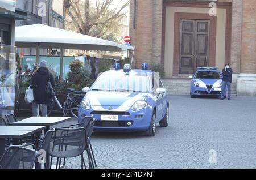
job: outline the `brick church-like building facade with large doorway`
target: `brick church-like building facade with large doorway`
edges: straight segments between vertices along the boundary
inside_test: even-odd
[[[237,95],[256,96],[255,0],[131,0],[130,36],[136,67],[161,64],[174,78],[230,63]]]

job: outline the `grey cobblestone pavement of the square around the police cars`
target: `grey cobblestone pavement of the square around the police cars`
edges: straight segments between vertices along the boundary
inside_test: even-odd
[[[156,136],[139,132],[96,132],[98,168],[256,168],[256,97],[170,96],[170,125]],[[57,127],[76,123],[76,119]],[[209,151],[217,163],[209,163]],[[81,158],[65,168],[80,168]]]

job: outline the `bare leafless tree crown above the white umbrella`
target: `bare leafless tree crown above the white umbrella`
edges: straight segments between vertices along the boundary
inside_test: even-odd
[[[118,22],[127,16],[124,10],[129,6],[129,0],[120,0],[114,8],[110,8],[114,5],[113,0],[93,1],[94,3],[90,0],[69,1],[68,16],[71,20],[67,20],[67,22],[71,23],[80,33],[104,36],[108,33],[106,29],[117,27]],[[122,2],[124,3],[121,6]]]

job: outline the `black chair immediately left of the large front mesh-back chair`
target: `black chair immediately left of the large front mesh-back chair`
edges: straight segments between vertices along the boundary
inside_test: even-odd
[[[46,132],[43,139],[34,139],[31,141],[28,141],[27,143],[30,143],[30,144],[27,144],[27,145],[31,145],[38,152],[41,152],[43,150],[46,153],[46,155],[48,155],[52,136],[54,133],[55,133],[55,128],[52,128],[51,130]],[[44,160],[44,162],[46,162],[45,168],[49,169],[50,168],[49,162],[47,160]]]

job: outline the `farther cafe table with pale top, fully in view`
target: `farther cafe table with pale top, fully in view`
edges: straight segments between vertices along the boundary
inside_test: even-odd
[[[49,131],[51,126],[68,121],[71,117],[31,117],[21,121],[13,122],[13,126],[46,126],[45,132]]]

